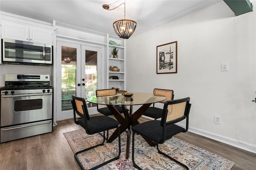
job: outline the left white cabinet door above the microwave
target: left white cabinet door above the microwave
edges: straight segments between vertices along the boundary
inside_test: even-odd
[[[29,41],[29,27],[11,22],[2,22],[2,38]]]

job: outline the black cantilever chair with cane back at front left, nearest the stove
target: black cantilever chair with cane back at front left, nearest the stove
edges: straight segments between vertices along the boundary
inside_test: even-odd
[[[83,127],[86,131],[87,134],[96,134],[96,133],[100,133],[103,132],[104,136],[105,136],[105,131],[106,130],[110,130],[113,128],[118,128],[119,130],[119,123],[118,121],[116,121],[115,119],[112,119],[111,117],[108,116],[95,116],[95,117],[90,117],[87,107],[86,107],[86,103],[85,103],[85,99],[81,98],[81,97],[76,97],[76,96],[72,96],[72,107],[73,107],[73,111],[74,111],[74,122],[77,125],[80,125],[81,127]],[[82,117],[82,119],[76,119],[76,114],[79,115],[80,117]],[[120,134],[118,136],[118,144],[119,144],[119,152],[118,155],[115,156],[114,158],[103,162],[93,168],[90,168],[90,170],[94,170],[96,168],[99,168],[100,166],[103,166],[105,164],[108,164],[109,162],[113,161],[113,160],[117,160],[119,159],[120,153],[121,153],[121,145],[120,145]],[[97,144],[95,146],[91,146],[89,148],[80,150],[78,152],[76,152],[74,154],[76,161],[78,162],[80,168],[83,168],[80,160],[77,157],[77,154],[81,153],[81,152],[85,152],[86,150],[90,150],[92,148],[95,148],[97,146],[100,145],[104,145],[105,142],[105,138],[103,137],[103,142],[100,144]]]

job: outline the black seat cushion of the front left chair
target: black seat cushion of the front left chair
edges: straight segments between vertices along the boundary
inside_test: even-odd
[[[85,122],[84,119],[79,119],[77,123],[85,129]],[[108,116],[95,116],[90,117],[87,121],[88,125],[88,134],[94,134],[98,132],[102,132],[105,130],[109,130],[112,128],[117,128],[119,123],[115,119],[108,117]]]

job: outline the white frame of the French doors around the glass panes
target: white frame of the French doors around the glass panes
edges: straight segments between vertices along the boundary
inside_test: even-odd
[[[103,51],[103,47],[98,47],[97,45],[95,45],[96,47],[93,47],[94,45],[83,45],[80,44],[78,42],[70,42],[70,41],[56,41],[56,57],[54,57],[54,74],[53,74],[53,86],[54,86],[54,122],[56,121],[60,121],[60,120],[64,120],[64,119],[70,119],[73,118],[73,111],[62,111],[61,110],[61,47],[62,46],[66,46],[66,47],[73,47],[77,49],[77,63],[85,63],[85,50],[90,50],[90,51],[97,51],[97,65],[98,65],[98,89],[101,89],[101,87],[104,87],[104,85],[102,85],[102,83],[104,83],[102,81],[102,51]],[[82,52],[83,51],[83,52]],[[84,53],[84,55],[82,54]],[[81,57],[84,56],[84,57]],[[85,67],[85,64],[84,64]],[[77,71],[77,78],[76,78],[76,87],[78,83],[82,83],[82,80],[80,77],[85,77],[85,75],[81,75],[81,64],[77,64],[76,67]],[[85,74],[85,73],[83,73]],[[79,79],[78,79],[79,78]],[[81,85],[82,86],[82,85]],[[81,87],[80,86],[80,87]],[[81,90],[82,89],[82,90]],[[76,94],[85,94],[85,89],[84,88],[77,88]],[[96,107],[91,107],[90,109],[88,109],[88,112],[91,114],[95,114],[98,113],[96,110]]]

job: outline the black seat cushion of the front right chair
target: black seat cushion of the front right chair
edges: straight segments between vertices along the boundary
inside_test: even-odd
[[[163,127],[161,121],[148,121],[132,127],[132,132],[144,135],[156,143],[162,144],[165,140],[172,138],[175,134],[183,132],[185,129],[178,125],[166,125],[166,138],[163,139]]]

